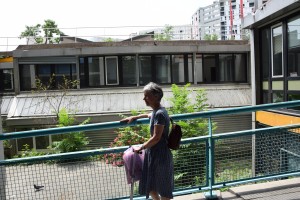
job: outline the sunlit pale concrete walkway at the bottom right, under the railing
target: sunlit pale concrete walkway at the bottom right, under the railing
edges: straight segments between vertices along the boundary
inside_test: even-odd
[[[216,191],[220,200],[300,200],[300,178],[232,187]],[[205,200],[203,193],[175,197],[175,200]]]

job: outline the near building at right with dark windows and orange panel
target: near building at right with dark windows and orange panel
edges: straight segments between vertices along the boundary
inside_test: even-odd
[[[272,0],[244,19],[251,30],[253,102],[300,100],[300,3]],[[299,121],[300,108],[258,112],[257,121],[274,126]],[[273,119],[273,120],[270,120]]]

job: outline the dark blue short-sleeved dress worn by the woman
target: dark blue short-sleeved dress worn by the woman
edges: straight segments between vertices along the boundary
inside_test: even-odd
[[[149,198],[149,192],[156,191],[163,197],[172,199],[174,189],[173,156],[168,147],[170,118],[165,108],[154,110],[150,119],[150,133],[153,135],[154,125],[164,125],[160,141],[145,150],[142,178],[139,193]]]

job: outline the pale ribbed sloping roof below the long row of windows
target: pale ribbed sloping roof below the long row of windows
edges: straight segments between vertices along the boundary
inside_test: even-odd
[[[200,89],[200,88],[197,88]],[[207,103],[212,108],[251,105],[251,88],[225,87],[206,89]],[[55,95],[58,95],[56,93]],[[50,98],[36,94],[18,95],[17,106],[11,117],[31,117],[34,115],[54,115],[57,110],[60,96]],[[49,96],[49,95],[48,95]],[[164,88],[162,105],[169,107],[168,98],[172,96],[170,88]],[[142,89],[114,89],[98,91],[73,91],[63,97],[60,108],[66,107],[70,112],[77,114],[97,114],[106,112],[123,112],[130,110],[149,109],[143,101]],[[196,92],[190,96],[195,102]],[[2,103],[3,104],[3,103]],[[4,104],[3,104],[4,105]],[[7,105],[7,103],[5,103]],[[3,106],[1,108],[4,110]]]

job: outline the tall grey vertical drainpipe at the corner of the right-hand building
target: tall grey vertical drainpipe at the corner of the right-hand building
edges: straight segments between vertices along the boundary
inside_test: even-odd
[[[252,106],[256,105],[256,82],[255,82],[255,49],[254,29],[250,31],[250,65],[251,65],[251,96]],[[252,112],[252,129],[255,129],[255,112]],[[252,136],[252,176],[255,176],[255,135]]]

